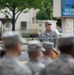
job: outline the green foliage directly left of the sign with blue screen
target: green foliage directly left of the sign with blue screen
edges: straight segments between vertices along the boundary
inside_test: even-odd
[[[53,0],[43,0],[42,8],[37,13],[36,16],[37,20],[53,19],[52,8],[53,8]]]

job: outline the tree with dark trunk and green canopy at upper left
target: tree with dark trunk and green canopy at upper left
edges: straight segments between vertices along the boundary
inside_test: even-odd
[[[28,12],[31,8],[41,8],[43,0],[0,0],[0,9],[7,18],[11,17],[12,30],[15,30],[15,23],[19,15]],[[11,12],[9,12],[11,11]]]

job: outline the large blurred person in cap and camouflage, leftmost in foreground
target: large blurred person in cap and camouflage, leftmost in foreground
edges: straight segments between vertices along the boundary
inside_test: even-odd
[[[3,43],[6,53],[0,61],[0,75],[31,75],[29,68],[18,60],[22,51],[22,37],[16,32],[7,32]]]

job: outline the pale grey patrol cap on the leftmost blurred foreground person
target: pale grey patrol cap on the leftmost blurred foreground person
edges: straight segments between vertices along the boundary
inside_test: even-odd
[[[3,35],[4,46],[16,45],[17,43],[23,43],[23,38],[18,32],[10,31]]]

